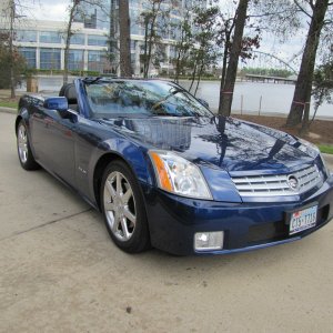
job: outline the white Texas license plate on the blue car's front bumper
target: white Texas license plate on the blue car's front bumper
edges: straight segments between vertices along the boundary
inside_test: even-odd
[[[295,234],[314,226],[316,222],[316,212],[317,205],[293,212],[290,220],[289,234]]]

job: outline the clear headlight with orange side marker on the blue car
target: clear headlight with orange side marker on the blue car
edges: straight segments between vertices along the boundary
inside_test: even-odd
[[[150,151],[159,188],[189,198],[212,200],[200,169],[190,161],[168,151]]]

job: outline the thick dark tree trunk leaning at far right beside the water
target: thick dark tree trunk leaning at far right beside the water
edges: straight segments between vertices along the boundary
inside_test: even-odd
[[[294,127],[299,124],[303,117],[302,132],[305,133],[309,127],[310,101],[316,52],[322,29],[326,23],[325,16],[329,7],[333,6],[333,2],[330,2],[330,0],[303,0],[301,3],[294,0],[294,3],[299,7],[300,11],[310,19],[310,27],[286,125]],[[307,7],[305,7],[305,4],[307,4]]]

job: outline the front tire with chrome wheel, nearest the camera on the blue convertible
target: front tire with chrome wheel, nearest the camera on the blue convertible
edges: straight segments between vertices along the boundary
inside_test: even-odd
[[[117,246],[128,253],[149,249],[143,196],[135,176],[124,162],[117,160],[108,164],[100,198],[105,226]]]

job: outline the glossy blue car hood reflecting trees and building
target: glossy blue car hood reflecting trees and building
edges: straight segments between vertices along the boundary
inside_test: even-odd
[[[119,118],[101,120],[148,149],[172,150],[196,164],[230,173],[289,172],[316,152],[296,138],[234,118]]]

